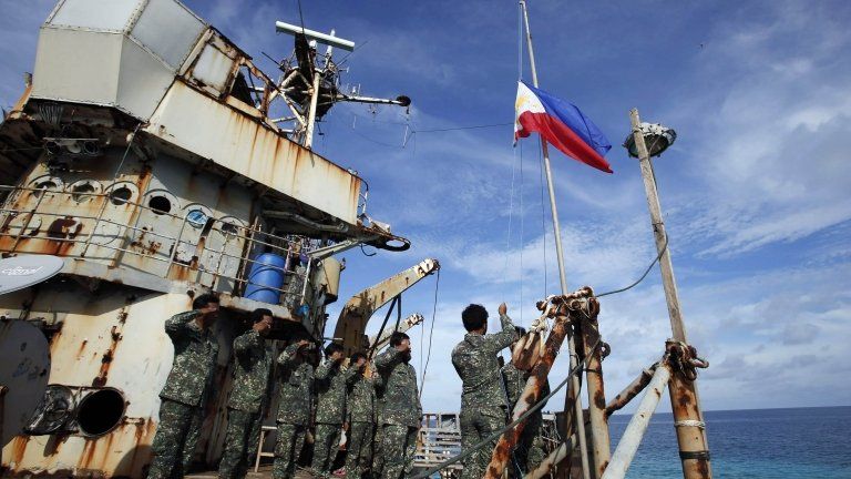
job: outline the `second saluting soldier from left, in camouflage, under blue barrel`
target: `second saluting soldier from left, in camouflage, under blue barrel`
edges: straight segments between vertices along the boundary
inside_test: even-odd
[[[271,329],[271,312],[252,313],[254,326],[234,339],[234,388],[227,402],[227,436],[218,466],[222,479],[242,479],[257,455],[267,393],[271,377],[271,351],[264,338]]]

